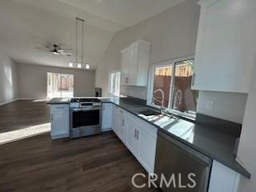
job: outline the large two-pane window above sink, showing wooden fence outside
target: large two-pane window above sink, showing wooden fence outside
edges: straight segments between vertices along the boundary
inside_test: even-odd
[[[150,69],[147,105],[166,108],[169,112],[195,119],[198,90],[194,81],[194,58],[155,64]]]

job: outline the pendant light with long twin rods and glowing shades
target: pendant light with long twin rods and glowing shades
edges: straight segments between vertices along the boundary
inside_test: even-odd
[[[78,22],[82,22],[82,58],[81,62],[78,62]],[[75,62],[70,62],[70,67],[77,67],[78,69],[90,69],[90,64],[83,62],[83,47],[84,47],[84,39],[83,39],[83,31],[84,31],[84,22],[82,18],[75,18]]]

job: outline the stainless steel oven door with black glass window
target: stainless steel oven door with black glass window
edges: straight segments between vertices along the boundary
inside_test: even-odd
[[[102,131],[102,108],[70,110],[70,138],[78,138]]]

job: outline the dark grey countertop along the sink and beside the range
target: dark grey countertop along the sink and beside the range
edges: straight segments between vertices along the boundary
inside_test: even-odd
[[[171,118],[166,115],[144,116],[138,114],[137,110],[146,108],[146,103],[133,102],[122,98],[99,98],[103,103],[114,103],[127,110],[131,114],[142,118],[146,122],[176,138],[179,142],[198,150],[202,154],[221,162],[230,169],[237,171],[246,178],[250,178],[250,173],[235,159],[236,145],[238,137],[233,134],[226,134],[219,129],[214,129],[208,125],[186,121],[182,118]],[[48,104],[68,104],[68,98],[54,98]]]

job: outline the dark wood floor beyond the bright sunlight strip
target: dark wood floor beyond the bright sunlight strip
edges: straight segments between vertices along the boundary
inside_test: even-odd
[[[0,134],[50,122],[50,106],[33,100],[0,106]]]

